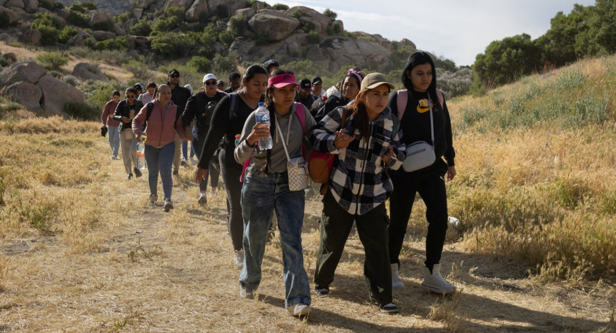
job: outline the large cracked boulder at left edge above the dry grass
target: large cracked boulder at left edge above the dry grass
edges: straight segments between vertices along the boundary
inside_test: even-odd
[[[20,62],[0,73],[0,94],[9,95],[27,110],[61,113],[65,102],[84,102],[79,89],[49,75],[36,62]]]

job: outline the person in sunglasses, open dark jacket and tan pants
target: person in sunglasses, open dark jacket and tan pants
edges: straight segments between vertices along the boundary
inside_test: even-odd
[[[137,112],[144,107],[141,101],[137,101],[137,89],[126,89],[126,99],[120,101],[113,113],[113,119],[120,121],[120,147],[122,148],[122,161],[126,178],[132,178],[134,171],[136,177],[141,176],[141,171],[137,168],[137,141],[132,133],[132,120]],[[132,168],[131,168],[132,167]]]

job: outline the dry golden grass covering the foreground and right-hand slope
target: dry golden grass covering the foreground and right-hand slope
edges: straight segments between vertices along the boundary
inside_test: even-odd
[[[0,332],[615,332],[616,57],[448,102],[458,175],[447,184],[442,263],[452,297],[419,289],[425,207],[401,254],[397,316],[370,310],[352,232],[330,297],[300,321],[283,309],[280,244],[259,299],[238,297],[222,192],[147,207],[99,123],[36,118],[0,101]],[[101,105],[102,109],[102,105]],[[160,190],[159,190],[160,191]],[[320,202],[303,229],[309,278]]]

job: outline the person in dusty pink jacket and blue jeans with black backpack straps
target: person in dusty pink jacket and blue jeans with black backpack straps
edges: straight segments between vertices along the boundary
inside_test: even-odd
[[[145,131],[141,126],[145,123]],[[158,86],[158,94],[154,101],[145,105],[132,121],[132,133],[141,141],[145,139],[145,163],[148,166],[148,187],[150,187],[150,204],[154,205],[157,194],[158,172],[163,183],[163,209],[165,212],[173,209],[171,191],[173,178],[171,165],[176,151],[174,137],[185,138],[182,120],[178,116],[177,107],[171,102],[171,88],[167,84]]]

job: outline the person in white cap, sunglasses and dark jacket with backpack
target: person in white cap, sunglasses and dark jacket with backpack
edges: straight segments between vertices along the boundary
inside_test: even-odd
[[[209,73],[203,76],[203,89],[205,91],[197,92],[197,94],[191,96],[186,103],[186,108],[182,112],[182,125],[184,125],[184,131],[188,139],[192,139],[192,146],[196,152],[203,150],[203,142],[208,135],[209,125],[212,120],[212,114],[218,102],[222,97],[227,96],[226,92],[217,90],[217,81],[214,74]],[[195,135],[191,134],[190,123],[195,120]],[[199,183],[199,189],[201,194],[199,195],[198,202],[200,205],[205,205],[208,202],[207,196],[207,184],[208,176],[210,178],[211,193],[216,193],[216,187],[218,186],[219,173],[214,169],[212,162],[209,162],[209,173],[204,179],[201,179]]]

